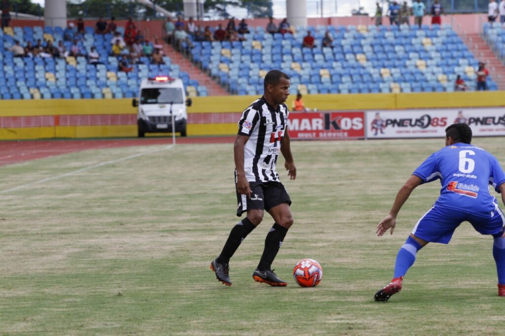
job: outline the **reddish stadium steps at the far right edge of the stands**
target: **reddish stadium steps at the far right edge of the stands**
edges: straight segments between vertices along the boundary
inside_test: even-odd
[[[496,82],[498,89],[505,90],[505,65],[498,60],[486,41],[479,34],[467,34],[464,40],[475,58],[486,63],[489,75]]]

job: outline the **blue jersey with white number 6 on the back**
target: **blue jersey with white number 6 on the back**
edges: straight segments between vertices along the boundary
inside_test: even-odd
[[[498,191],[505,173],[498,160],[482,148],[456,143],[431,154],[413,173],[423,182],[440,179],[442,189],[435,206],[489,216],[498,203],[489,184]]]

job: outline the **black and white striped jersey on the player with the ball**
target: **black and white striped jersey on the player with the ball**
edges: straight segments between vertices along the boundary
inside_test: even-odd
[[[279,182],[275,170],[289,110],[280,104],[275,110],[264,97],[247,107],[238,122],[238,134],[248,136],[244,146],[244,170],[249,182]]]

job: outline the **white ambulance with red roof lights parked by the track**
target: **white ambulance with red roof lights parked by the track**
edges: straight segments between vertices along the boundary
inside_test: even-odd
[[[138,100],[134,98],[132,105],[138,106],[138,137],[143,138],[145,133],[171,133],[173,130],[186,136],[186,106],[191,106],[191,99],[186,100],[182,80],[167,76],[143,79]]]

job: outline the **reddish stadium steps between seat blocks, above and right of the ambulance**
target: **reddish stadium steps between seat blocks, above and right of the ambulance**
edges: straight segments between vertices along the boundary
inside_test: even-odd
[[[223,87],[216,83],[211,77],[209,77],[205,72],[194,66],[188,59],[186,59],[180,52],[174,49],[172,45],[165,46],[165,54],[170,57],[172,63],[178,64],[181,67],[181,71],[185,71],[189,74],[191,79],[196,79],[199,85],[205,85],[207,87],[207,92],[210,96],[227,96],[230,95]]]

